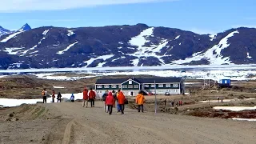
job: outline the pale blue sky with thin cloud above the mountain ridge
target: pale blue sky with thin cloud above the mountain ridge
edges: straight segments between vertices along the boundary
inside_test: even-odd
[[[4,0],[0,26],[166,26],[214,34],[256,27],[255,0]]]

